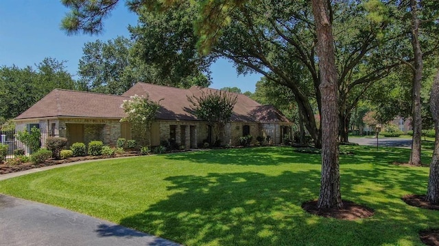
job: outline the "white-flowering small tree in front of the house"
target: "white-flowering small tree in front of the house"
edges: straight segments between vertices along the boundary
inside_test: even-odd
[[[151,124],[160,109],[160,100],[154,102],[149,96],[130,96],[130,100],[123,100],[121,108],[126,117],[121,122],[130,122],[134,133],[140,137],[140,145],[150,144]]]

